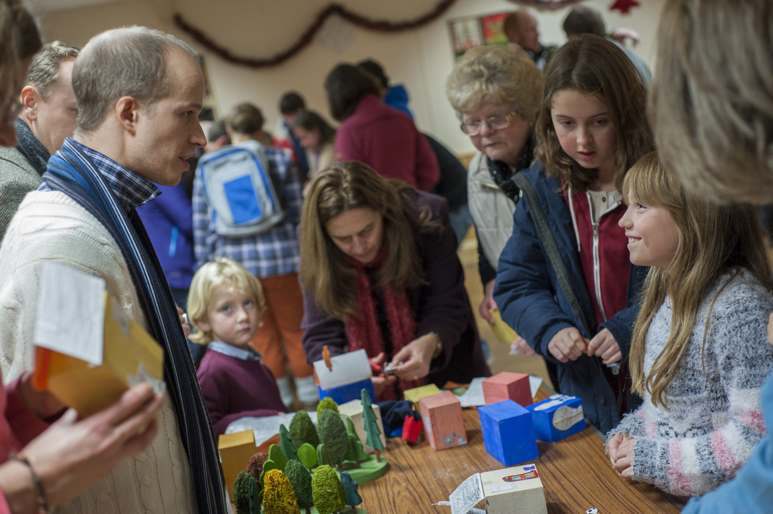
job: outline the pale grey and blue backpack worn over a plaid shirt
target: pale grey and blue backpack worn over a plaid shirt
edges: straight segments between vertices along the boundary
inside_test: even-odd
[[[218,235],[252,236],[284,218],[265,152],[257,141],[206,153],[197,168]]]

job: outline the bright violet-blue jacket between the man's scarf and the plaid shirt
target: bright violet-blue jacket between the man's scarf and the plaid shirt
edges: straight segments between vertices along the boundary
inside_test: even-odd
[[[193,213],[182,183],[158,186],[161,195],[137,209],[170,288],[188,289],[196,271]]]

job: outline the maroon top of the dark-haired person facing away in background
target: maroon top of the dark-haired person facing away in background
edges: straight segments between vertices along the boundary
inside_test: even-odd
[[[387,179],[429,191],[440,167],[427,138],[402,111],[367,95],[335,134],[335,160],[364,162]]]

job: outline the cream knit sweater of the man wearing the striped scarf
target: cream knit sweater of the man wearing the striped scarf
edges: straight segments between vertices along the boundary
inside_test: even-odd
[[[33,366],[43,260],[104,278],[107,292],[148,328],[121,250],[104,226],[61,192],[30,192],[0,247],[0,368],[5,383]],[[104,480],[55,512],[196,512],[188,458],[169,397],[148,449],[121,461]]]

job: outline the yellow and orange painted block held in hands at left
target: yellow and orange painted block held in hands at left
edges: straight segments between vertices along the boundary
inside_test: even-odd
[[[139,381],[164,387],[164,350],[104,293],[101,366],[53,350],[36,350],[36,384],[87,417],[115,403]]]

